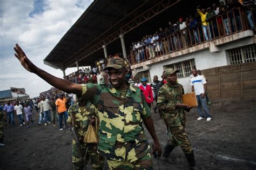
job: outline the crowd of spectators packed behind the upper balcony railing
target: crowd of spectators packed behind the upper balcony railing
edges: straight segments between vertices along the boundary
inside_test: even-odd
[[[227,0],[226,4],[212,4],[207,8],[200,5],[197,11],[189,17],[180,17],[176,22],[159,28],[152,35],[145,35],[142,40],[133,42],[130,46],[130,56],[133,64],[161,56],[166,53],[185,49],[192,45],[212,40],[230,33],[242,30],[242,19],[246,18],[248,29],[254,31],[253,12],[255,1]],[[245,15],[244,15],[245,14]]]

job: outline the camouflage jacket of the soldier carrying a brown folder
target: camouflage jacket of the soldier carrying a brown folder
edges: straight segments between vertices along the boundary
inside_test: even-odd
[[[182,103],[183,86],[177,83],[174,86],[168,83],[161,86],[158,92],[157,107],[161,110],[164,119],[169,119],[171,114],[180,114],[183,117],[183,108],[176,108],[176,103]]]

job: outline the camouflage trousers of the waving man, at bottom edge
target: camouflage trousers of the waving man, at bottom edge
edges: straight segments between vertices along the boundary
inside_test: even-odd
[[[150,153],[147,153],[144,157],[130,162],[128,160],[117,161],[117,160],[107,160],[107,164],[109,165],[109,169],[118,170],[118,169],[153,169],[152,159]]]

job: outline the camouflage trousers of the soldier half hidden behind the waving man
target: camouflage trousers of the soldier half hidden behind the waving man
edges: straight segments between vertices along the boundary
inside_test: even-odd
[[[85,164],[87,165],[89,160],[91,160],[92,169],[102,169],[104,166],[104,157],[97,153],[97,144],[86,144],[86,146],[81,144],[81,147],[83,154],[85,154],[87,147],[86,155],[83,155]],[[75,140],[72,141],[72,163],[75,169],[84,169],[84,163],[79,157]]]

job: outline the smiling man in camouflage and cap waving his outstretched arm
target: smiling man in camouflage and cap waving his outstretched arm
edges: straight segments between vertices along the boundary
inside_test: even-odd
[[[96,106],[100,119],[98,152],[106,157],[110,169],[153,169],[143,124],[153,138],[153,154],[161,155],[161,147],[143,93],[125,81],[122,58],[111,58],[105,67],[110,84],[78,85],[36,67],[18,44],[14,50],[26,70]]]

